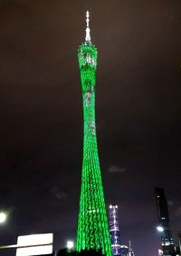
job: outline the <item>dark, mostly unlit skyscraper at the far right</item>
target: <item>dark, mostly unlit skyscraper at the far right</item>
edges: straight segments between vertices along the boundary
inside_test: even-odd
[[[161,188],[155,189],[155,195],[157,204],[157,218],[159,226],[163,228],[162,231],[160,231],[161,246],[164,252],[163,255],[169,256],[171,255],[171,252],[174,251],[174,241],[167,209],[167,198],[164,190]]]

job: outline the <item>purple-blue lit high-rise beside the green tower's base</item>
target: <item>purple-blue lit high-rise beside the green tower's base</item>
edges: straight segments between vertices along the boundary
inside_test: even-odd
[[[110,242],[113,255],[121,254],[119,233],[119,208],[117,204],[110,204],[109,209]]]

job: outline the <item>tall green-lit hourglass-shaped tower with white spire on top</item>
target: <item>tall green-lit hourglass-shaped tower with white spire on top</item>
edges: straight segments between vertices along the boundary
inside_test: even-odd
[[[104,202],[95,124],[97,49],[90,42],[89,12],[85,43],[78,50],[83,99],[83,161],[76,250],[101,250],[112,255]]]

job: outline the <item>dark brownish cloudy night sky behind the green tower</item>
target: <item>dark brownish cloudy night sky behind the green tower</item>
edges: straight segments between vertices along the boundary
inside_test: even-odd
[[[75,240],[87,9],[105,199],[119,204],[121,243],[156,256],[155,187],[181,231],[180,0],[0,1],[0,244],[41,232],[55,249]]]

